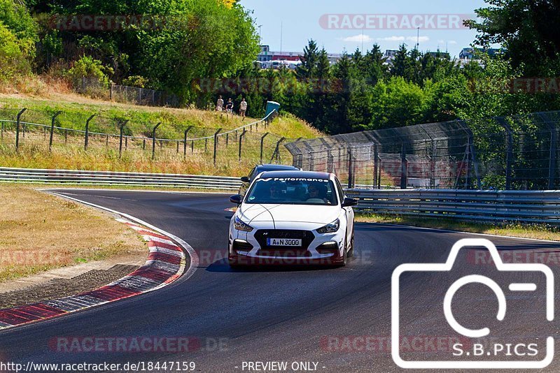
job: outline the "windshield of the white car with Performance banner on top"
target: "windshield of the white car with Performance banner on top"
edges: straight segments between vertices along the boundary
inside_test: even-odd
[[[256,180],[245,203],[284,205],[337,205],[335,185],[313,178],[267,178]]]

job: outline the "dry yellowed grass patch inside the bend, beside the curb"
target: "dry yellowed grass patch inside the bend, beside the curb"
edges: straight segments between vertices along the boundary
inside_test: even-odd
[[[109,215],[31,186],[0,184],[0,200],[0,281],[146,250]]]

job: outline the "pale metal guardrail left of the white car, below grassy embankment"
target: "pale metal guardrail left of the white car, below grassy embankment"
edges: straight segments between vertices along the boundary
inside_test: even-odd
[[[0,167],[0,182],[102,186],[165,186],[224,191],[235,191],[241,186],[239,177],[118,173],[110,171],[35,170],[6,167]]]

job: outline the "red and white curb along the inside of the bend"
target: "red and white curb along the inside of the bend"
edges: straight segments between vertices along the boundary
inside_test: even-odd
[[[68,198],[66,196],[62,197]],[[80,200],[78,200],[78,202],[83,203],[83,201]],[[90,203],[87,204],[92,205]],[[103,210],[109,210],[105,207],[100,208]],[[110,211],[115,212],[113,210]],[[130,228],[137,231],[139,235],[144,236],[144,240],[148,242],[148,248],[150,250],[148,260],[141,268],[135,270],[122,279],[113,281],[111,284],[102,286],[101,288],[97,288],[93,291],[80,293],[78,295],[71,295],[69,297],[56,300],[38,302],[31,305],[0,309],[0,330],[12,328],[14,326],[22,326],[35,321],[52,319],[71,312],[104,305],[110,302],[116,302],[117,300],[158,290],[159,288],[176,281],[176,279],[179,279],[179,277],[185,273],[187,262],[186,251],[188,251],[190,257],[190,267],[188,272],[192,275],[194,272],[193,268],[195,269],[198,263],[198,257],[194,253],[194,250],[188,246],[186,242],[175,236],[173,236],[172,239],[172,237],[169,237],[172,235],[165,233],[158,228],[145,228],[145,226],[149,226],[149,224],[140,225],[131,221],[139,221],[136,218],[129,217],[126,214],[118,214],[127,218],[132,218],[118,218],[117,221],[130,226]],[[181,246],[183,246],[185,250],[183,251],[179,244],[176,244],[175,242],[180,242]]]

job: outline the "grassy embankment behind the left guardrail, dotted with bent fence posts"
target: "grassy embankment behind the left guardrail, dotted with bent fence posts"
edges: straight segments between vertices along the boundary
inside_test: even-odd
[[[28,108],[22,121],[50,124],[50,115],[62,110],[57,126],[69,129],[85,128],[85,122],[95,113],[90,131],[118,133],[115,119],[127,118],[127,136],[151,137],[151,128],[162,122],[158,138],[183,139],[188,126],[195,126],[189,138],[212,136],[216,129],[236,129],[255,119],[241,122],[240,117],[229,117],[217,112],[195,109],[149,108],[122,103],[96,101],[76,95],[61,95],[59,99],[29,98],[0,95],[0,119],[14,118],[19,108]],[[91,136],[87,152],[83,149],[82,133],[55,131],[52,152],[48,151],[48,132],[30,126],[29,132],[20,136],[20,152],[15,152],[13,124],[6,124],[0,139],[0,165],[21,168],[59,168],[71,170],[113,170],[123,172],[183,173],[204,175],[246,175],[255,163],[260,162],[260,139],[269,132],[263,143],[262,161],[271,161],[276,143],[281,137],[288,142],[297,138],[315,138],[321,133],[291,115],[281,115],[264,128],[262,124],[248,130],[244,136],[239,161],[239,134],[232,133],[218,139],[218,152],[214,164],[214,140],[188,142],[187,154],[183,156],[183,142],[158,142],[155,159],[151,159],[151,140],[128,140],[119,156],[119,139]],[[227,146],[226,146],[227,142]],[[179,145],[179,149],[177,148]],[[178,152],[179,150],[179,152]],[[279,147],[280,162],[292,163],[292,157],[283,145]]]

